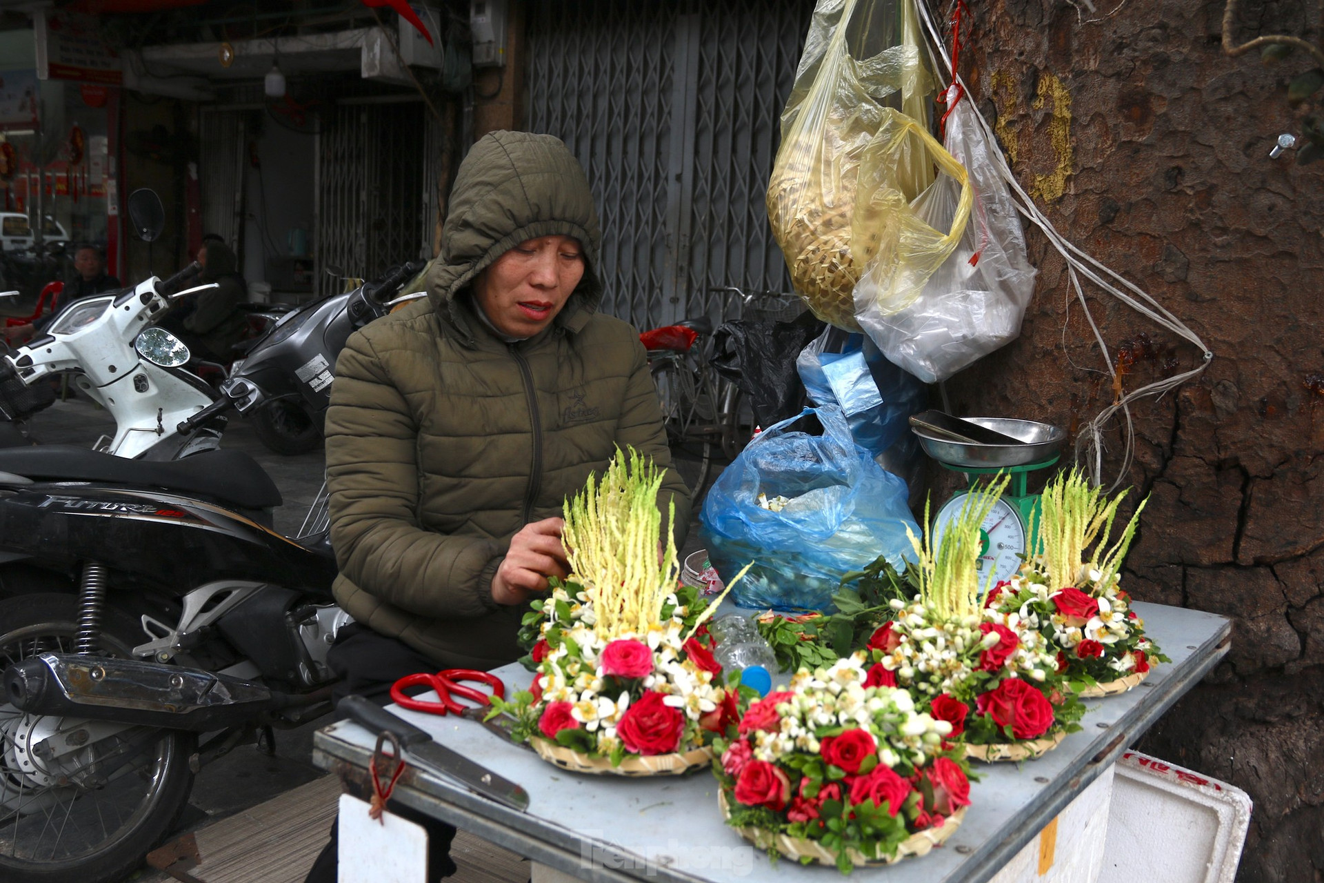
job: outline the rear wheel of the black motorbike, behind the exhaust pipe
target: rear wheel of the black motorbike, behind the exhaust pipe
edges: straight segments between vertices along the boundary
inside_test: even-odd
[[[0,669],[41,653],[73,653],[70,594],[0,601]],[[135,624],[107,609],[101,651],[128,657]],[[109,729],[114,729],[114,724]],[[26,715],[0,704],[0,880],[110,883],[143,860],[179,819],[193,786],[193,736]],[[75,740],[91,740],[68,751]],[[61,735],[65,753],[34,751]]]

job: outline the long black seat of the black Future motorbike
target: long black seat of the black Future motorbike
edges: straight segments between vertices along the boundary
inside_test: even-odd
[[[240,450],[208,450],[184,459],[126,459],[75,445],[0,449],[0,471],[33,481],[113,482],[203,494],[240,508],[279,506],[281,491]]]

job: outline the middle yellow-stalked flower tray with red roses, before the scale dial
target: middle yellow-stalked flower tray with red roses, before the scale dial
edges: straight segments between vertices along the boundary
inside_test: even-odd
[[[1054,748],[1084,707],[1057,670],[1043,635],[1013,610],[985,609],[976,559],[980,524],[1006,479],[965,498],[937,549],[932,530],[911,537],[919,594],[894,601],[894,617],[869,639],[869,684],[898,686],[964,736],[980,760],[1026,760]],[[927,519],[928,512],[925,512]]]

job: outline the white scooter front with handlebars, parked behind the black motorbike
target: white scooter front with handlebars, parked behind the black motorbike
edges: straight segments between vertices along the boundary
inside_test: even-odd
[[[189,359],[188,347],[169,331],[150,326],[168,306],[160,289],[175,278],[162,282],[152,277],[134,289],[78,301],[46,334],[7,356],[26,384],[70,373],[74,388],[115,418],[114,438],[99,447],[105,453],[177,459],[217,447],[214,432],[176,433],[180,421],[211,405],[216,395],[181,368]],[[203,285],[172,297],[214,287]]]

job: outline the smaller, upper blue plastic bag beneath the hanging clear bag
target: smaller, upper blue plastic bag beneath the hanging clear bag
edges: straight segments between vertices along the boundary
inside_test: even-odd
[[[865,335],[841,338],[835,328],[825,331],[800,352],[796,368],[809,400],[839,406],[855,443],[876,457],[910,440],[910,417],[924,410],[927,391]]]

